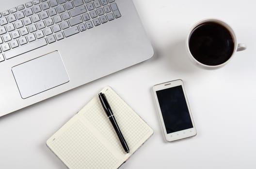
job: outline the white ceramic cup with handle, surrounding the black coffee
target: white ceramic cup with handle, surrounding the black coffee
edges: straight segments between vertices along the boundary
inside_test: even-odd
[[[203,63],[199,62],[198,60],[196,60],[194,58],[194,56],[192,55],[192,53],[190,51],[190,47],[189,47],[190,37],[191,37],[192,31],[194,30],[194,28],[198,27],[201,24],[208,23],[208,22],[218,23],[218,24],[224,26],[225,28],[227,28],[229,30],[229,32],[231,33],[231,35],[233,37],[233,41],[234,41],[234,51],[233,51],[232,56],[230,56],[230,58],[227,61],[225,61],[224,63],[222,63],[220,65],[216,65],[216,66],[206,65],[206,64],[203,64]],[[209,18],[209,19],[203,19],[203,20],[197,22],[190,29],[187,40],[186,40],[186,48],[187,48],[187,52],[188,52],[188,56],[190,57],[190,60],[196,66],[198,66],[200,68],[203,68],[203,69],[207,69],[207,70],[214,70],[214,69],[219,69],[219,68],[223,67],[224,65],[226,65],[231,60],[231,58],[233,58],[233,56],[235,55],[236,52],[245,50],[246,45],[244,43],[238,43],[237,42],[237,37],[236,37],[236,34],[235,34],[234,30],[228,24],[226,24],[224,21],[222,21],[220,19]]]

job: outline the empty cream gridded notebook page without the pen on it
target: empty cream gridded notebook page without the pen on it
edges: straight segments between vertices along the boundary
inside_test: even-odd
[[[79,120],[52,142],[51,149],[69,169],[113,169],[118,163]]]

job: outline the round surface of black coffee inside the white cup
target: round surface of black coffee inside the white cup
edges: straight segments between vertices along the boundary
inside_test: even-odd
[[[227,28],[207,22],[193,29],[189,48],[199,62],[216,66],[226,62],[234,52],[234,40]]]

